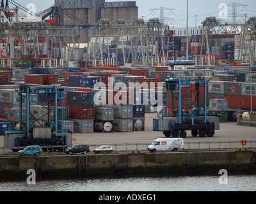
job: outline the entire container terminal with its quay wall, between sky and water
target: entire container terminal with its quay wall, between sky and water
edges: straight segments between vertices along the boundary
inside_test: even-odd
[[[256,17],[184,30],[135,1],[68,2],[31,18],[1,0],[0,179],[255,173]],[[175,138],[184,150],[164,149]]]

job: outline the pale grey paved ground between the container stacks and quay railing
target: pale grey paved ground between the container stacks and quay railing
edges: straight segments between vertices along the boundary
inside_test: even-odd
[[[165,138],[163,132],[152,131],[153,118],[157,117],[157,113],[147,113],[145,117],[145,131],[134,131],[132,133],[74,133],[73,138],[77,138],[75,144],[120,144],[120,143],[152,143],[156,138]],[[216,131],[212,138],[199,138],[193,137],[188,131],[188,136],[184,138],[184,142],[225,142],[225,141],[241,141],[241,140],[256,140],[256,127],[250,126],[237,126],[236,122],[227,122],[220,124],[220,130]],[[228,146],[229,144],[227,144]],[[240,144],[238,147],[242,147]],[[249,145],[249,144],[248,144]],[[254,143],[256,145],[256,143]],[[0,147],[4,146],[3,136],[0,136]],[[208,144],[200,145],[200,149],[209,147]],[[213,147],[211,145],[211,147]],[[219,145],[216,144],[216,148]],[[93,150],[94,146],[91,147]],[[117,150],[124,150],[117,149]],[[188,147],[185,147],[188,149]],[[192,148],[190,146],[190,148]],[[197,148],[197,146],[195,147]],[[222,148],[222,147],[221,147]],[[115,149],[115,147],[114,147]],[[136,149],[136,147],[130,147],[129,150]],[[147,147],[138,147],[138,149],[147,149]],[[0,151],[1,154],[1,151]]]

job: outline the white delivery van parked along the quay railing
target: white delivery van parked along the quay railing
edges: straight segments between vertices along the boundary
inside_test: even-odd
[[[184,150],[183,138],[160,138],[148,146],[150,152]]]

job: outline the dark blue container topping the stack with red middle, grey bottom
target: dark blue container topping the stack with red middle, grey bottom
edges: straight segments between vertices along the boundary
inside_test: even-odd
[[[67,105],[93,106],[93,92],[68,91]]]

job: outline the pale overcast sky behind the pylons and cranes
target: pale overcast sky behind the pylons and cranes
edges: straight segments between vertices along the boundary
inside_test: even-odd
[[[54,0],[14,0],[25,8],[29,3],[33,3],[36,6],[36,13],[43,11],[54,4]],[[75,0],[78,1],[78,0]],[[118,1],[118,0],[111,0]],[[120,0],[119,0],[120,1]],[[11,0],[10,0],[11,2]],[[12,8],[13,4],[9,2],[9,7]],[[106,0],[106,2],[109,2]],[[177,3],[179,2],[179,3]],[[231,22],[232,6],[221,7],[220,4],[232,4],[237,3],[237,21],[244,22],[245,17],[256,16],[256,1],[255,0],[188,0],[189,5],[189,27],[195,27],[196,24],[200,25],[206,17],[225,17],[227,14],[227,22]],[[238,6],[238,5],[247,6]],[[136,5],[139,10],[139,18],[149,20],[150,18],[159,18],[159,8],[164,8],[164,18],[166,23],[172,27],[185,27],[186,26],[186,5],[187,0],[137,0]],[[227,10],[225,10],[227,8]],[[154,10],[156,9],[156,10]],[[152,11],[153,10],[153,11]],[[225,13],[226,12],[226,13]],[[221,14],[221,15],[220,15]],[[195,15],[198,15],[195,18]],[[174,20],[173,20],[174,19]]]

